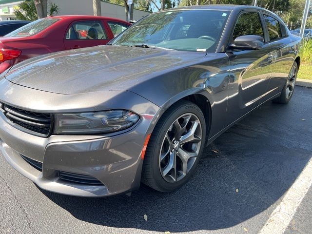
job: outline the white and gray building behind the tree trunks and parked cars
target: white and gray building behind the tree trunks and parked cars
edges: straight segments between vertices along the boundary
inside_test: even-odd
[[[0,0],[0,20],[15,20],[14,8],[20,0]],[[48,0],[48,3],[59,5],[59,14],[56,15],[93,15],[93,0]],[[125,7],[101,2],[102,16],[119,18],[126,20]],[[133,12],[134,20],[139,20],[150,12],[135,9]]]

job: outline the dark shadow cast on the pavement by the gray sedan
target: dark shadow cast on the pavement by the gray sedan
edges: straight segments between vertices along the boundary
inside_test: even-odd
[[[298,111],[295,103],[266,103],[230,128],[206,148],[195,175],[174,193],[146,186],[131,197],[42,192],[76,218],[98,225],[159,232],[232,227],[268,209],[311,158],[312,126],[302,118],[312,108]]]

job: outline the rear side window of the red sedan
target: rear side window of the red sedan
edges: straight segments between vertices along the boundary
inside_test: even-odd
[[[107,35],[100,21],[79,21],[67,31],[66,39],[107,39]]]

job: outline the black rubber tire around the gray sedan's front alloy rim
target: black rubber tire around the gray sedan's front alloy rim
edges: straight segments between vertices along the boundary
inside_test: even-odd
[[[188,115],[192,116],[192,117],[197,117],[195,118],[195,121],[191,121],[191,117],[189,118],[189,120],[184,120],[188,118]],[[200,122],[200,131],[201,131],[201,143],[200,145],[198,143],[195,142],[189,142],[190,144],[192,144],[192,150],[193,150],[193,144],[196,144],[198,148],[196,148],[196,152],[198,153],[198,155],[196,157],[192,157],[192,166],[190,167],[189,171],[187,171],[187,173],[184,175],[184,177],[182,177],[180,180],[178,180],[177,175],[179,175],[180,177],[182,176],[181,173],[176,172],[177,170],[175,169],[175,173],[176,173],[176,181],[175,182],[168,182],[165,179],[168,179],[167,177],[163,177],[161,172],[161,151],[163,150],[163,144],[164,141],[166,139],[168,139],[169,142],[169,138],[166,136],[169,136],[170,133],[169,131],[173,131],[173,133],[175,133],[175,130],[170,130],[170,129],[175,129],[174,123],[176,123],[176,121],[180,120],[181,118],[183,118],[183,123],[188,122],[187,124],[192,125],[192,127],[186,127],[185,129],[187,130],[187,128],[189,128],[190,130],[188,130],[189,132],[191,131],[191,129],[194,129],[195,126],[195,122],[197,123],[198,121]],[[181,126],[183,126],[183,123],[181,123]],[[176,125],[175,125],[176,126]],[[190,126],[190,125],[188,125]],[[198,130],[198,126],[196,126],[196,129]],[[196,131],[197,131],[196,130]],[[168,134],[167,134],[168,133]],[[185,132],[186,133],[186,132]],[[175,135],[175,134],[174,134]],[[182,134],[182,137],[185,136],[185,134]],[[195,136],[195,135],[194,135]],[[182,139],[182,137],[179,138],[179,142]],[[198,139],[197,139],[198,140]],[[205,117],[202,113],[202,111],[200,110],[200,108],[195,105],[193,102],[190,101],[186,101],[186,100],[181,100],[176,102],[175,104],[173,104],[164,114],[163,116],[159,119],[158,123],[156,124],[156,127],[152,133],[152,136],[150,138],[150,141],[148,143],[147,146],[147,150],[146,150],[146,154],[144,157],[144,162],[143,162],[143,171],[142,171],[142,182],[144,184],[146,184],[147,186],[160,191],[160,192],[172,192],[174,190],[176,190],[177,188],[181,187],[184,183],[186,183],[190,177],[192,176],[196,165],[198,164],[200,155],[203,151],[203,148],[205,146],[205,140],[206,140],[206,123],[205,123]],[[172,141],[175,141],[174,139],[172,139]],[[181,140],[182,142],[182,140]],[[182,148],[183,147],[187,147],[188,143],[182,144],[180,145],[180,143],[178,143],[177,148]],[[172,144],[171,144],[172,145]],[[174,146],[176,146],[176,144],[174,144]],[[170,156],[172,154],[175,153],[170,153],[170,147],[168,146],[169,149],[169,154],[168,157],[171,158]],[[173,151],[175,151],[175,147],[174,149],[172,149]],[[171,152],[173,152],[171,151]],[[175,152],[178,152],[178,150],[176,150]],[[163,153],[162,153],[163,154]],[[178,166],[178,161],[180,160],[180,157],[178,157],[179,153],[176,153],[176,165]],[[192,152],[191,152],[192,154]],[[165,155],[165,154],[164,154]],[[191,158],[187,159],[190,160]],[[169,159],[168,159],[169,160]],[[186,160],[186,161],[187,161]],[[189,163],[189,161],[187,161]],[[181,160],[181,165],[183,165],[183,162]],[[189,165],[189,164],[186,165]],[[169,164],[169,162],[168,162]],[[185,164],[184,164],[185,165]],[[182,168],[183,166],[181,166],[180,168]],[[183,169],[181,169],[183,170]]]

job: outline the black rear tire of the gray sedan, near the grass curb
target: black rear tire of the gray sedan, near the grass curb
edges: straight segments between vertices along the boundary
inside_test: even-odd
[[[292,76],[293,69],[295,70],[294,76]],[[292,95],[293,95],[293,91],[294,91],[294,87],[295,87],[295,82],[297,79],[297,73],[298,73],[298,65],[296,62],[294,62],[292,65],[292,69],[290,71],[290,74],[289,74],[289,76],[285,82],[285,86],[282,90],[281,95],[278,98],[273,99],[272,100],[273,102],[281,103],[281,104],[287,104],[291,100]],[[290,85],[292,83],[290,81],[293,81],[293,86]],[[291,91],[291,93],[289,93],[290,91]]]

